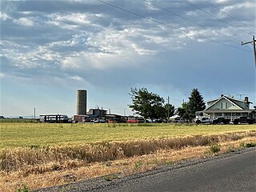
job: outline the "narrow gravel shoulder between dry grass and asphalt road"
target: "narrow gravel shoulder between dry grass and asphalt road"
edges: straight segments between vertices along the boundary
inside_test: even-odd
[[[157,169],[148,170],[146,172],[142,172],[139,174],[132,174],[127,177],[122,177],[121,174],[117,174],[118,178],[115,178],[110,181],[106,181],[106,178],[104,178],[104,177],[91,178],[91,179],[86,179],[86,180],[79,181],[79,182],[73,182],[70,184],[63,185],[63,186],[51,186],[51,187],[34,190],[34,191],[35,192],[106,191],[106,190],[115,188],[122,183],[133,182],[134,180],[139,179],[139,178],[145,178],[145,177],[149,177],[154,174],[159,174],[159,173],[163,173],[163,172],[167,172],[167,171],[171,171],[171,170],[177,170],[182,167],[193,166],[193,165],[197,165],[197,164],[203,163],[203,162],[210,162],[210,161],[214,161],[215,159],[228,158],[233,155],[246,153],[247,151],[250,151],[250,150],[256,150],[256,147],[244,148],[242,150],[234,150],[230,153],[219,154],[218,156],[211,156],[211,157],[207,157],[207,158],[193,158],[193,159],[188,159],[188,160],[181,160],[178,162],[174,162],[173,164],[170,164],[170,165],[158,166]]]

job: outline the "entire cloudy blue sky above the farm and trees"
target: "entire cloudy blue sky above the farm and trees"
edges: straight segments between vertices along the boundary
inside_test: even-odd
[[[132,114],[130,89],[176,107],[197,88],[256,105],[255,0],[22,0],[0,2],[0,115]]]

